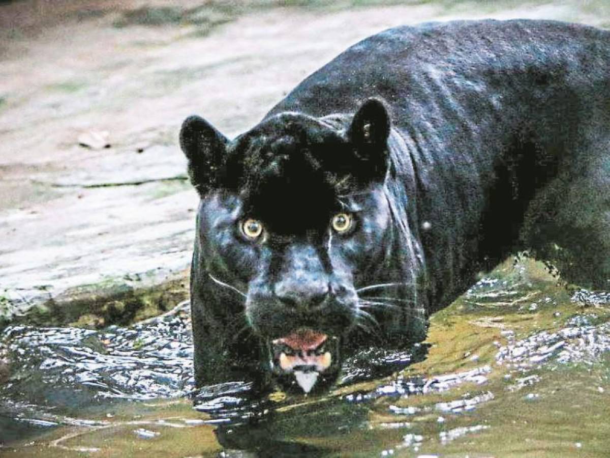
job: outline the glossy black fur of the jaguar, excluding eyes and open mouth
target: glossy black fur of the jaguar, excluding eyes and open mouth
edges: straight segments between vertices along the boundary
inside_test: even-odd
[[[232,141],[188,118],[197,382],[264,371],[262,343],[297,327],[421,340],[515,250],[608,288],[609,115],[610,34],[515,20],[367,38]]]

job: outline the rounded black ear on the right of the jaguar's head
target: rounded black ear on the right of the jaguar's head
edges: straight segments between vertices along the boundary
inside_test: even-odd
[[[387,139],[390,116],[378,98],[369,98],[358,109],[348,129],[365,178],[383,179],[387,172]]]

